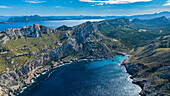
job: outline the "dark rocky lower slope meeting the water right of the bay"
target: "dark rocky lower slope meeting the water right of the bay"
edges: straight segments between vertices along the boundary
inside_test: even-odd
[[[153,72],[152,69],[148,69],[148,67],[144,64],[141,63],[126,63],[124,64],[124,66],[127,69],[127,72],[129,74],[131,74],[131,78],[133,79],[134,84],[139,85],[142,88],[142,91],[140,92],[141,96],[169,96],[168,94],[162,93],[160,92],[161,90],[167,90],[162,89],[162,86],[167,86],[169,87],[169,84],[165,83],[164,85],[160,86],[158,88],[157,84],[152,84],[152,81],[154,78],[152,77],[146,77],[147,74],[150,74]],[[141,72],[142,70],[147,69],[147,72],[145,72],[144,74],[140,74],[139,72]],[[164,74],[165,78],[168,78],[169,74]]]

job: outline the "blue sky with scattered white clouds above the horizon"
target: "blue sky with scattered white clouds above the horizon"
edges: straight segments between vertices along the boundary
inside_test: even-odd
[[[0,16],[130,16],[170,12],[170,0],[0,0]]]

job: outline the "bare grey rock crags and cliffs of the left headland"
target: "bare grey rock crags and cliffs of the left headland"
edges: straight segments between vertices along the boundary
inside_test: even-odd
[[[42,34],[48,33],[56,33],[56,31],[37,24],[23,27],[21,29],[7,29],[1,32],[1,34],[4,34],[9,39],[19,39],[19,37],[22,38],[25,36],[42,37]],[[38,53],[41,54],[37,57],[31,58],[19,68],[12,71],[7,70],[6,73],[2,74],[0,76],[1,91],[3,94],[9,96],[18,94],[23,87],[31,84],[31,80],[36,76],[50,70],[55,66],[58,66],[59,64],[62,64],[63,62],[84,58],[97,59],[111,57],[113,54],[111,55],[111,52],[106,47],[106,44],[100,43],[101,40],[105,39],[107,38],[96,34],[91,22],[86,22],[79,26],[75,26],[72,30],[68,30],[68,32],[59,38],[59,41],[61,41],[61,46],[51,50],[46,50],[48,49],[46,48],[46,51],[42,50],[44,51],[43,53],[38,51]],[[15,54],[8,59],[30,54],[37,55],[37,51],[33,53]],[[65,60],[68,56],[73,57]]]

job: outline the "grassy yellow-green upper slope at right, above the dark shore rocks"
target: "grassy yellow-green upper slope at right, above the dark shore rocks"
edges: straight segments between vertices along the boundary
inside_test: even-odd
[[[169,80],[169,64],[170,64],[170,36],[162,36],[155,39],[150,44],[138,48],[132,63],[143,63],[148,66],[147,69],[141,70],[138,74],[145,78],[152,77],[152,85],[156,86],[156,90],[169,94],[167,84]]]

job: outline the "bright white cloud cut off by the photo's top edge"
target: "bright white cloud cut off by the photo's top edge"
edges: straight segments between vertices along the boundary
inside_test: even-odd
[[[79,0],[80,2],[92,2],[92,3],[99,3],[99,5],[103,4],[129,4],[135,2],[149,2],[152,0]]]

